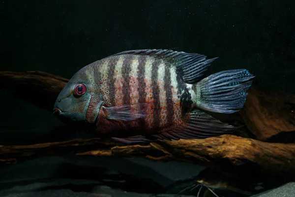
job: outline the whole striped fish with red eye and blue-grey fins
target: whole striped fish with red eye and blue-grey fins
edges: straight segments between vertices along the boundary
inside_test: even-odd
[[[239,111],[255,76],[232,69],[204,77],[216,59],[168,49],[123,51],[77,71],[53,113],[123,143],[229,134],[236,127],[209,112]]]

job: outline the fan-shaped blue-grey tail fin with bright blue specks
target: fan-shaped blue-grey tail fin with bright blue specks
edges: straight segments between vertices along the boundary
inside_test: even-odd
[[[254,75],[246,69],[225,70],[206,77],[197,83],[197,107],[217,113],[239,111],[252,78]]]

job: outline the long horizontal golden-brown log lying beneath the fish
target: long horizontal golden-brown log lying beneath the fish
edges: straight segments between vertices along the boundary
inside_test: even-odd
[[[253,173],[295,175],[295,144],[262,142],[234,135],[130,145],[92,138],[34,145],[0,146],[0,163],[16,163],[38,155],[63,153],[181,161],[201,164],[228,174],[238,171],[247,176]]]

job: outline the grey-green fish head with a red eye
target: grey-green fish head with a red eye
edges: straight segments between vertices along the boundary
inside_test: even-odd
[[[85,66],[69,80],[55,101],[53,113],[66,124],[93,123],[103,103],[93,70]]]

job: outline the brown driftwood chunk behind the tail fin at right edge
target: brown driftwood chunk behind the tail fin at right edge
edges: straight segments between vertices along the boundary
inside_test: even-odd
[[[251,88],[240,114],[247,128],[259,140],[281,132],[295,131],[295,95],[267,94]]]

